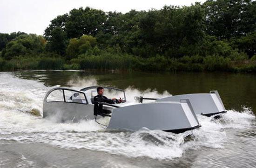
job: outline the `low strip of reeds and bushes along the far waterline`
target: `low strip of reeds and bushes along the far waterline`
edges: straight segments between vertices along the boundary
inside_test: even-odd
[[[222,56],[183,56],[168,58],[152,56],[141,58],[129,54],[104,53],[99,56],[81,55],[67,61],[58,56],[19,56],[11,60],[0,58],[0,71],[17,69],[73,69],[73,70],[141,70],[141,71],[186,71],[186,72],[256,72],[256,57],[248,60],[232,60]]]

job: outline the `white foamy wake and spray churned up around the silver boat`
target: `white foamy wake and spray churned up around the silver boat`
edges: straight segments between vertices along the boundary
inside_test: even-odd
[[[227,129],[251,127],[255,116],[249,108],[242,112],[229,110],[221,118],[198,116],[201,128],[174,134],[160,130],[142,128],[138,131],[105,131],[93,120],[80,123],[54,123],[29,113],[37,109],[42,114],[45,94],[52,87],[33,80],[0,73],[0,140],[20,143],[47,143],[66,149],[90,149],[128,157],[150,157],[172,159],[181,157],[188,149],[224,148],[227,143]],[[97,85],[94,78],[70,81],[72,87],[86,87],[84,83]],[[155,90],[125,89],[128,101],[134,96],[165,97],[170,93]]]

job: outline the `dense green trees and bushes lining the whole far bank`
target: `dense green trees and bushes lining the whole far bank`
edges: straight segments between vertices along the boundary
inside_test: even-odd
[[[0,71],[256,72],[256,1],[207,0],[125,14],[59,15],[44,35],[0,33]]]

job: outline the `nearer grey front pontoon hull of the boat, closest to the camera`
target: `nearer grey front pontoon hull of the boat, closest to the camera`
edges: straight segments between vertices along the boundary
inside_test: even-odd
[[[116,108],[108,128],[178,131],[199,127],[189,100],[181,102],[155,102]]]

